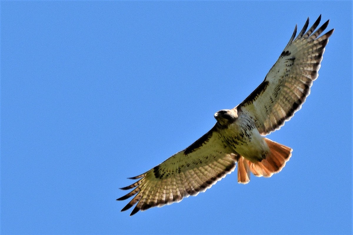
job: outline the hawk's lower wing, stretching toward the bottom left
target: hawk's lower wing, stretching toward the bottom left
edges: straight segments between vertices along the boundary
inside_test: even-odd
[[[130,179],[136,183],[121,188],[130,193],[116,200],[133,199],[121,210],[137,203],[130,215],[153,206],[180,202],[189,195],[204,192],[217,181],[234,171],[237,154],[220,141],[217,124],[191,146],[174,154],[148,172]]]

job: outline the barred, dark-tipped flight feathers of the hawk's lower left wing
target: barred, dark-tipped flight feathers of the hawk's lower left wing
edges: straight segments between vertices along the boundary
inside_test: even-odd
[[[206,191],[217,181],[233,172],[235,161],[234,155],[227,155],[215,159],[213,162],[208,162],[208,164],[203,164],[203,166],[189,168],[180,173],[175,172],[175,174],[162,179],[155,178],[154,169],[151,169],[139,181],[121,188],[128,190],[136,187],[116,200],[125,200],[134,196],[121,210],[128,210],[137,203],[130,214],[131,216],[140,210],[180,202],[184,197],[196,196],[199,192]]]

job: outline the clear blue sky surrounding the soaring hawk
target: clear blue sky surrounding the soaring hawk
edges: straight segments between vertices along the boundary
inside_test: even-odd
[[[127,177],[207,132],[319,14],[319,78],[269,136],[293,148],[282,172],[120,212]],[[351,88],[348,1],[1,1],[1,233],[351,234]]]

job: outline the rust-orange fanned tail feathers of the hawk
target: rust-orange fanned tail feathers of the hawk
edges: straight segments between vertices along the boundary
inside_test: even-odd
[[[286,165],[292,155],[292,149],[282,144],[264,138],[270,152],[261,162],[251,162],[240,156],[238,161],[238,183],[247,184],[250,181],[250,172],[257,177],[271,177]]]

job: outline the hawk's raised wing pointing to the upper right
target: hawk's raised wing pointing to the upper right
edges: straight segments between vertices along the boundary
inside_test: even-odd
[[[265,80],[234,109],[250,116],[262,135],[278,130],[301,108],[310,94],[312,82],[318,77],[322,55],[333,29],[326,29],[329,20],[314,32],[321,15],[307,31],[309,17],[297,38],[294,33]],[[314,32],[314,33],[313,33]]]

